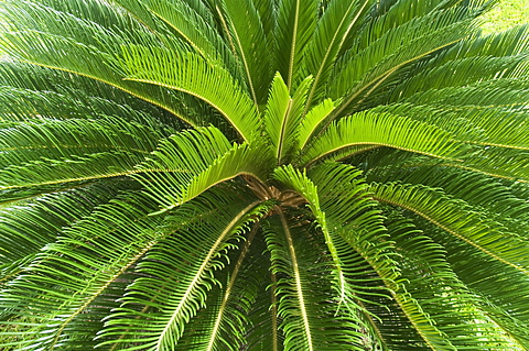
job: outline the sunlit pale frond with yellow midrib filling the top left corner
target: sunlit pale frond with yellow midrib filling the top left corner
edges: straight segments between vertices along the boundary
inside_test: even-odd
[[[168,94],[161,87],[148,88],[139,83],[123,80],[122,70],[116,68],[121,45],[130,42],[158,42],[158,39],[140,23],[134,25],[132,19],[123,21],[116,9],[97,3],[98,6],[82,9],[83,15],[94,10],[106,19],[104,23],[108,26],[122,26],[122,31],[118,30],[119,35],[115,32],[116,28],[106,29],[101,24],[51,7],[29,1],[6,1],[2,18],[11,28],[9,32],[2,32],[1,47],[22,62],[95,79],[165,109],[186,123],[202,125],[201,120],[193,120],[193,116],[182,113],[185,110],[179,108],[181,97],[177,94]],[[60,2],[54,2],[54,6],[60,7]],[[108,11],[100,13],[98,9]],[[45,29],[42,23],[45,23]],[[128,31],[123,32],[126,28]]]

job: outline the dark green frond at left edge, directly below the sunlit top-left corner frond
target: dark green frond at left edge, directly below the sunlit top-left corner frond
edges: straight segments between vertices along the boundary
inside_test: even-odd
[[[87,118],[112,116],[180,129],[169,112],[109,85],[61,70],[19,62],[0,62],[0,119]],[[165,113],[164,113],[165,112]]]

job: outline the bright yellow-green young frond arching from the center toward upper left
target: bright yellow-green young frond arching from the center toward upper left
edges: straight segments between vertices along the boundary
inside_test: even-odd
[[[222,66],[192,53],[182,54],[163,47],[123,46],[121,50],[128,80],[190,94],[217,110],[242,140],[256,138],[259,127],[257,107]]]

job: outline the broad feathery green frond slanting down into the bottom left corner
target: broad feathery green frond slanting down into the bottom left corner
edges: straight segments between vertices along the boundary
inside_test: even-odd
[[[160,219],[148,217],[153,206],[152,201],[129,193],[61,230],[62,235],[11,279],[3,292],[2,307],[47,320],[25,331],[45,334],[39,341],[41,348],[54,350],[85,342],[94,347],[93,339],[102,327],[102,317],[118,307],[117,300],[105,296],[111,295],[108,288],[156,240],[154,228]],[[22,296],[23,304],[15,303]],[[101,309],[99,314],[90,311],[93,304],[98,306],[96,310]],[[87,311],[95,318],[91,322],[83,316]]]

